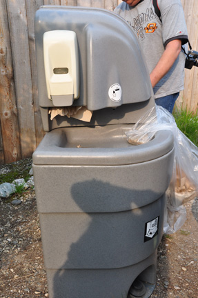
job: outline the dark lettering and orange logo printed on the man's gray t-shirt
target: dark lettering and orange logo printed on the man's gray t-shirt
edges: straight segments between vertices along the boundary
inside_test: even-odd
[[[132,29],[137,32],[137,37],[140,40],[145,39],[145,33],[153,33],[157,29],[157,24],[152,23],[153,20],[156,19],[155,11],[153,8],[147,8],[146,12],[142,12],[138,14],[133,21],[128,21],[129,25]],[[147,26],[145,27],[145,25]],[[143,26],[144,25],[144,26]]]

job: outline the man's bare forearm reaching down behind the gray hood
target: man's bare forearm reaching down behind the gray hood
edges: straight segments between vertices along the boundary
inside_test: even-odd
[[[175,39],[170,41],[161,58],[159,59],[157,66],[150,73],[150,81],[152,88],[164,77],[164,75],[170,70],[175,60],[181,52],[181,40]]]

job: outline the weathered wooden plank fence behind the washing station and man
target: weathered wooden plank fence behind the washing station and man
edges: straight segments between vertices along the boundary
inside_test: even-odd
[[[113,10],[121,0],[1,0],[0,164],[30,157],[43,139],[34,52],[34,13],[42,5]],[[198,1],[181,0],[193,49],[198,50]],[[186,70],[178,106],[198,106],[198,68]]]

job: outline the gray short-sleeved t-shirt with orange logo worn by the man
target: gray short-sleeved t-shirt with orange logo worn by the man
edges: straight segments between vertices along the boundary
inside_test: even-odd
[[[122,2],[115,8],[115,13],[123,17],[137,34],[149,72],[157,65],[169,41],[181,39],[182,45],[188,42],[181,1],[158,0],[157,2],[161,21],[155,14],[152,0],[142,0],[137,6],[128,6]],[[155,86],[156,99],[184,90],[185,59],[186,55],[181,51],[172,68]]]

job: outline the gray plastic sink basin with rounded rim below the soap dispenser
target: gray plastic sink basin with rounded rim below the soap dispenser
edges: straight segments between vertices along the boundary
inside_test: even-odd
[[[172,132],[161,130],[148,143],[132,146],[125,132],[132,126],[57,128],[48,132],[33,154],[34,164],[119,165],[157,159],[174,146]]]

